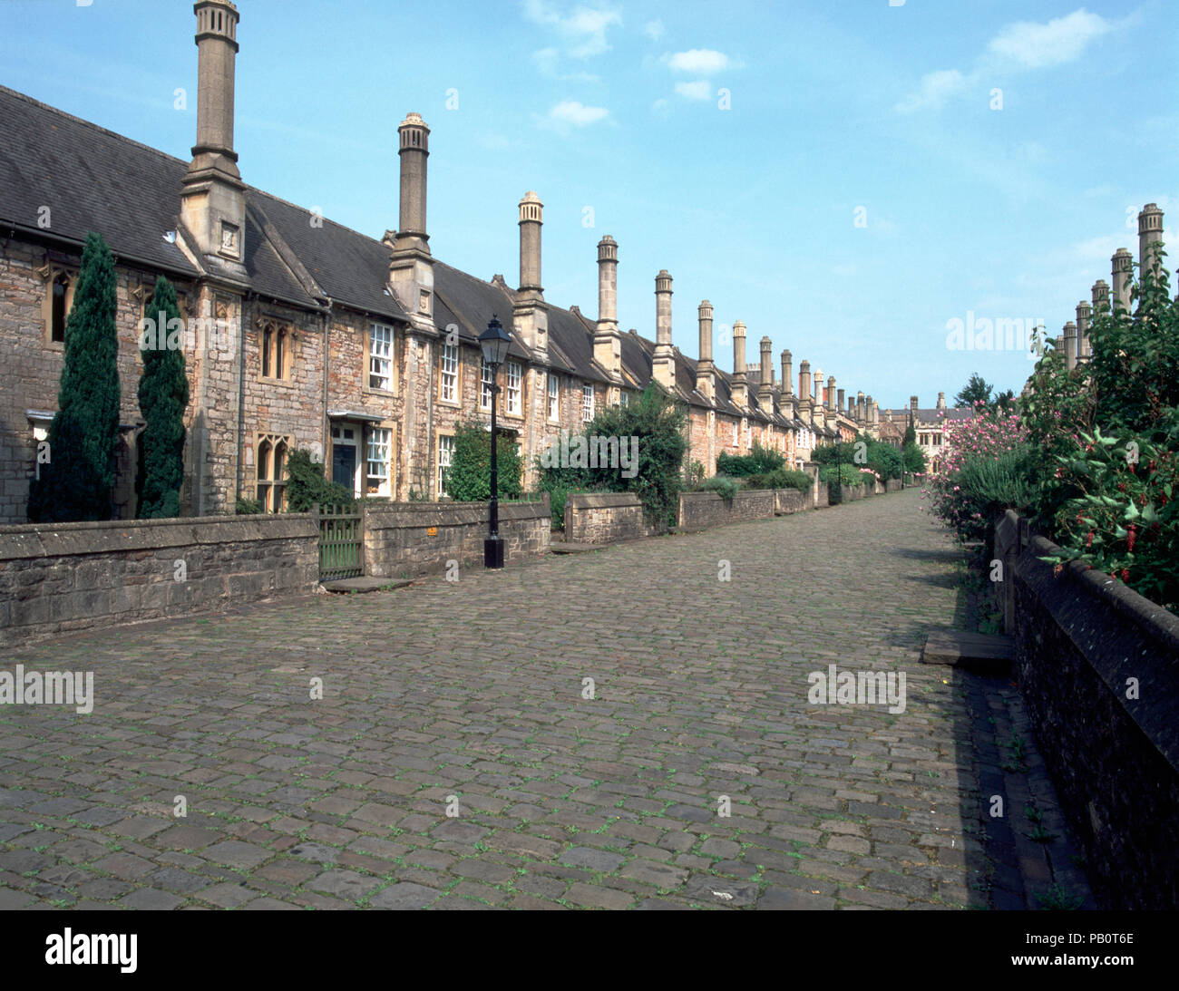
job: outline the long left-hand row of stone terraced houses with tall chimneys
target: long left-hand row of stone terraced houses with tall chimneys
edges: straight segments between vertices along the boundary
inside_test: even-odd
[[[544,204],[519,204],[520,283],[479,279],[435,259],[426,218],[430,130],[399,127],[400,230],[377,240],[246,185],[233,151],[238,12],[199,0],[197,144],[183,161],[0,87],[0,522],[25,522],[37,443],[57,409],[66,316],[87,231],[118,275],[121,449],[116,516],[134,515],[139,339],[157,276],[177,288],[190,378],[186,515],[232,513],[238,497],[284,504],[285,462],[308,449],[357,495],[444,497],[455,425],[489,419],[477,337],[493,315],[513,344],[498,414],[531,465],[562,430],[652,381],[690,411],[691,458],[755,442],[795,467],[836,431],[875,434],[878,408],[848,396],[790,351],[775,375],[769,337],[735,366],[712,361],[712,306],[699,305],[699,357],[671,343],[672,277],[656,276],[656,339],[619,329],[618,244],[598,244],[597,318],[545,300]],[[531,469],[529,469],[531,474]],[[531,480],[529,480],[531,481]]]

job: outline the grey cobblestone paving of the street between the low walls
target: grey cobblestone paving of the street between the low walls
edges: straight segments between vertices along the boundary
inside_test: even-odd
[[[954,557],[910,490],[9,654],[97,701],[0,709],[0,907],[1034,904],[1014,689],[918,663]],[[905,711],[810,705],[831,663]]]

